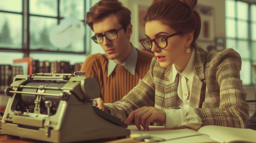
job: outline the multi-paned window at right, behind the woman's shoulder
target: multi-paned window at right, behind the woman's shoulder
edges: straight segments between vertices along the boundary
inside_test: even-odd
[[[252,64],[256,64],[256,5],[238,0],[225,1],[226,47],[242,59],[243,85],[255,84]]]

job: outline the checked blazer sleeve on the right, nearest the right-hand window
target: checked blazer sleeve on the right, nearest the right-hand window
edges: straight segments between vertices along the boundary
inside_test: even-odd
[[[211,56],[212,58],[210,58]],[[211,62],[207,63],[206,61],[206,65],[209,66],[205,66],[204,71],[207,92],[202,108],[198,109],[203,126],[219,125],[246,128],[249,119],[249,106],[246,102],[247,94],[240,79],[242,65],[240,55],[229,48],[215,54],[215,56],[209,54],[208,59],[211,59]],[[218,85],[215,86],[215,83]],[[219,88],[217,89],[219,95],[215,96],[213,93],[216,87]],[[212,97],[209,98],[208,95]]]

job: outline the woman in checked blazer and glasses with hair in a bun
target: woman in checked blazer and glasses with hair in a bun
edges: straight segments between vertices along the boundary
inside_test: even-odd
[[[204,125],[246,128],[248,109],[240,79],[241,57],[233,49],[206,52],[196,45],[201,29],[197,0],[161,0],[143,18],[146,39],[140,43],[155,56],[144,79],[124,98],[98,107],[126,124]],[[104,106],[105,105],[105,106]],[[155,105],[155,107],[153,107]],[[128,117],[129,116],[129,117]]]

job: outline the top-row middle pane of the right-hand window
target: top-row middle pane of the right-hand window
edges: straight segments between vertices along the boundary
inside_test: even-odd
[[[237,1],[237,18],[248,20],[248,4]]]

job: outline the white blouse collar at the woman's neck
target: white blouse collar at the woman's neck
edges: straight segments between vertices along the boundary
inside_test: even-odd
[[[186,65],[184,71],[182,72],[182,75],[191,81],[193,81],[193,75],[194,75],[193,66],[195,61],[195,55],[196,55],[196,49],[193,48],[188,64]],[[174,82],[177,73],[178,73],[178,69],[174,64],[172,64],[172,82]]]

